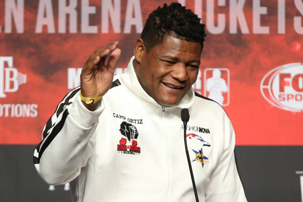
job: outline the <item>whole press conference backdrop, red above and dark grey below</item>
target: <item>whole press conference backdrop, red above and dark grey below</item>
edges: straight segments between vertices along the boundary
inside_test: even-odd
[[[32,163],[44,124],[95,49],[119,41],[115,73],[125,71],[148,14],[165,2],[0,2],[0,201],[70,200],[68,184],[47,185]],[[179,2],[206,24],[193,88],[231,119],[248,201],[303,201],[302,0]]]

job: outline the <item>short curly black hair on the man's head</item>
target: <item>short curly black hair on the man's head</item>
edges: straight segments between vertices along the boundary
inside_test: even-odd
[[[185,41],[201,44],[205,41],[205,24],[200,23],[198,18],[190,9],[186,9],[179,3],[164,4],[154,10],[147,18],[141,33],[147,52],[155,45],[163,43],[165,35],[171,35]]]

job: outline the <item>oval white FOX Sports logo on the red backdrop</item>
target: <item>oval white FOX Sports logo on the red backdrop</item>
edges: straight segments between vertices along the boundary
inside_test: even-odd
[[[290,63],[272,69],[262,78],[260,90],[265,100],[275,107],[302,112],[302,63]]]

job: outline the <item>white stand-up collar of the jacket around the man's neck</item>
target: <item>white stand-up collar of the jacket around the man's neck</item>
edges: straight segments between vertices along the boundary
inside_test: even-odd
[[[141,87],[137,75],[134,70],[133,61],[135,60],[135,56],[132,56],[131,60],[127,65],[127,70],[124,74],[120,76],[122,83],[125,84],[134,94],[138,97],[144,99],[146,102],[152,105],[160,106],[153,98],[151,98]],[[179,108],[189,108],[194,103],[195,92],[191,87],[187,94],[181,99],[181,101],[175,105]]]

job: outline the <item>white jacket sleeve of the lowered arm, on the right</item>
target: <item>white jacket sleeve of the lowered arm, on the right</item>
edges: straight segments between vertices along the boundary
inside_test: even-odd
[[[235,162],[235,132],[224,115],[224,149],[205,187],[205,202],[247,202]]]

